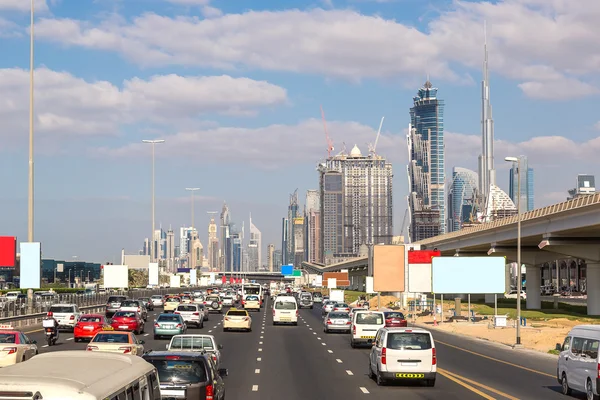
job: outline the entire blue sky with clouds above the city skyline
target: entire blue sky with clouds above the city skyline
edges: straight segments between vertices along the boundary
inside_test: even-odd
[[[476,170],[487,21],[498,183],[535,169],[536,207],[596,173],[600,2],[580,0],[36,0],[36,233],[45,257],[117,260],[157,224],[230,205],[280,247],[289,193],[317,188],[336,149],[394,165],[406,209],[408,110],[427,74],[446,102],[446,169]],[[29,2],[0,0],[0,235],[27,236]],[[263,251],[265,253],[265,251]]]

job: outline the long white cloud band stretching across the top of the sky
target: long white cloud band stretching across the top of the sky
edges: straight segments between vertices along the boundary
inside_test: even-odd
[[[352,10],[311,9],[209,20],[144,14],[130,24],[99,26],[42,20],[38,33],[61,43],[118,51],[143,65],[243,65],[351,80],[420,80],[427,69],[436,80],[460,82],[462,72],[451,66],[480,68],[487,20],[491,69],[522,82],[526,95],[564,99],[565,86],[574,96],[597,92],[591,77],[600,71],[599,1],[578,0],[577,7],[566,0],[452,4],[427,32]]]

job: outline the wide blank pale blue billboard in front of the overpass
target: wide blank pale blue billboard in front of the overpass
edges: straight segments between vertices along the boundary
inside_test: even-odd
[[[504,257],[434,257],[431,265],[433,293],[506,292]]]

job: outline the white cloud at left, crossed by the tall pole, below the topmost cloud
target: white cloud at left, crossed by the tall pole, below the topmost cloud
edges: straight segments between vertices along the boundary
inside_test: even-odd
[[[0,69],[3,139],[23,137],[28,121],[29,72]],[[86,82],[67,72],[35,71],[36,130],[46,135],[115,135],[124,124],[193,119],[200,115],[253,114],[285,103],[285,89],[229,76],[134,78],[119,88]]]

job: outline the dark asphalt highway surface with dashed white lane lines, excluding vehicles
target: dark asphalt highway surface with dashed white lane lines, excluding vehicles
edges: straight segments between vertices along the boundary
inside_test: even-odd
[[[252,332],[223,332],[222,316],[211,314],[203,329],[188,333],[215,335],[222,350],[222,367],[229,369],[226,393],[230,399],[564,399],[556,381],[556,361],[549,356],[513,350],[482,341],[433,331],[438,352],[434,388],[396,384],[378,387],[367,376],[368,349],[352,349],[348,335],[325,334],[321,309],[300,311],[298,326],[273,326],[271,310],[252,314]],[[163,350],[168,341],[154,340],[149,313],[146,350]],[[83,350],[71,333],[45,347],[42,332],[28,335],[40,353]],[[583,398],[583,397],[580,397]]]

